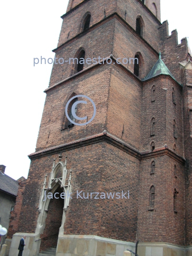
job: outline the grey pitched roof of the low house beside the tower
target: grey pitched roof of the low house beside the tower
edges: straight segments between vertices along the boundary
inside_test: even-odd
[[[0,172],[0,190],[17,196],[18,182],[6,174]]]

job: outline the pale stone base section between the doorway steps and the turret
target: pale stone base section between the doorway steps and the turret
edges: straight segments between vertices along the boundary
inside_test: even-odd
[[[123,256],[135,243],[98,236],[59,235],[56,256]]]

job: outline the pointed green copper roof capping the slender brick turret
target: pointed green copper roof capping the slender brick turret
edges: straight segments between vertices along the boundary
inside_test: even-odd
[[[142,81],[146,81],[148,79],[151,79],[157,75],[160,74],[166,74],[166,75],[170,75],[173,79],[174,76],[172,75],[172,73],[169,71],[168,67],[165,65],[165,63],[162,61],[161,59],[161,53],[159,53],[159,59],[158,61],[155,63],[154,67],[152,68],[152,70],[148,73],[148,75],[142,79]],[[175,80],[175,79],[174,79]],[[176,80],[175,80],[176,81]]]

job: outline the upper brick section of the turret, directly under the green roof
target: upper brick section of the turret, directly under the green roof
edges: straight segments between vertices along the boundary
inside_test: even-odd
[[[152,87],[155,85],[155,101],[151,101]],[[172,92],[174,88],[175,103]],[[155,118],[155,135],[151,136],[151,120]],[[176,121],[177,138],[174,138],[174,120]],[[152,141],[155,148],[167,145],[177,154],[183,156],[183,119],[182,119],[182,86],[166,77],[154,78],[143,87],[141,118],[141,151],[150,150]]]

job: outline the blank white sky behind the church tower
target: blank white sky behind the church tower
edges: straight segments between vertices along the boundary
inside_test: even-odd
[[[27,178],[35,152],[51,64],[33,66],[33,58],[54,58],[68,0],[8,0],[0,3],[0,165],[14,179]],[[161,21],[169,34],[177,28],[179,43],[192,48],[191,0],[161,0]],[[189,10],[187,12],[186,10]]]

